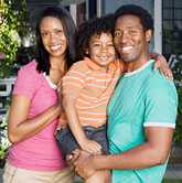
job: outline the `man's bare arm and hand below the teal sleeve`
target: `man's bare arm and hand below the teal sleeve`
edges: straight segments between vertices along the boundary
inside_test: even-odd
[[[169,157],[173,128],[147,127],[147,141],[120,154],[95,155],[77,160],[76,171],[89,177],[96,170],[143,169],[164,163]]]

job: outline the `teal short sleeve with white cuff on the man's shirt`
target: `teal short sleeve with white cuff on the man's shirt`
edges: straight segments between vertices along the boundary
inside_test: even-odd
[[[144,127],[175,127],[178,95],[173,82],[158,75],[146,95]]]

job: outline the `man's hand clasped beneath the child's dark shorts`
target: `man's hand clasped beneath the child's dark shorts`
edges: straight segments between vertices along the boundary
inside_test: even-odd
[[[74,166],[76,173],[85,180],[87,180],[96,172],[96,169],[94,166],[94,155],[86,157],[85,159],[78,158],[74,162]]]

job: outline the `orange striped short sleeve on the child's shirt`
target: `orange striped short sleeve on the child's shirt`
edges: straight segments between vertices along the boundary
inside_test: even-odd
[[[62,94],[77,96],[85,86],[85,73],[83,64],[74,64],[62,79]]]

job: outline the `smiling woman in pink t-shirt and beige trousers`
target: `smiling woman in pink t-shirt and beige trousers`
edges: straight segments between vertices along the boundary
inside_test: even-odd
[[[56,88],[75,61],[75,33],[65,9],[50,7],[42,12],[36,28],[39,58],[19,71],[14,84],[4,183],[73,182],[54,131],[62,109]]]

